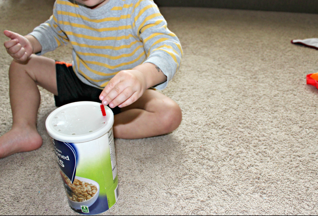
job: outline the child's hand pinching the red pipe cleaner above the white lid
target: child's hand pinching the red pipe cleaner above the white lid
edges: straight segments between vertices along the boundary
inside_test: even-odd
[[[117,73],[100,94],[103,105],[124,107],[134,103],[147,89],[145,75],[137,70]]]

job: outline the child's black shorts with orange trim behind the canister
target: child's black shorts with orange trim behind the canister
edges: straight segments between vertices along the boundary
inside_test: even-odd
[[[58,96],[54,96],[56,106],[63,106],[78,101],[101,103],[99,96],[102,90],[80,81],[73,71],[72,64],[56,61],[55,68],[58,88]],[[118,106],[111,109],[114,115],[120,113]]]

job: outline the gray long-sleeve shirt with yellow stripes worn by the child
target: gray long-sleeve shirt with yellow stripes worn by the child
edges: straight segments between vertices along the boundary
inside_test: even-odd
[[[73,45],[73,69],[85,84],[103,89],[121,70],[145,62],[158,66],[167,81],[179,69],[179,39],[152,0],[110,0],[90,9],[74,0],[57,0],[53,15],[30,35],[42,45],[39,55]]]

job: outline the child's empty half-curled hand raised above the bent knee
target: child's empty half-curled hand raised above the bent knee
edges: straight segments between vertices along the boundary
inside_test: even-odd
[[[9,55],[18,61],[26,61],[33,53],[31,42],[26,37],[12,31],[5,30],[3,33],[11,38],[11,40],[4,42]]]

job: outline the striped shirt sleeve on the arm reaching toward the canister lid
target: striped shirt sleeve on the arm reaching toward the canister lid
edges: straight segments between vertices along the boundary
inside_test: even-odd
[[[183,51],[179,39],[172,33],[159,8],[152,0],[136,0],[131,13],[134,33],[142,41],[147,54],[144,63],[159,67],[167,81],[157,86],[164,89],[179,70]]]

